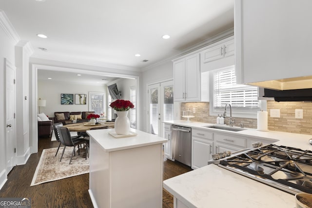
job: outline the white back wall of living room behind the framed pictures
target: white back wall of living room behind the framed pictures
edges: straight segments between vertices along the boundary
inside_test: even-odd
[[[106,86],[82,85],[74,82],[60,82],[53,80],[38,80],[38,98],[46,100],[46,106],[40,107],[40,112],[49,117],[54,117],[54,112],[78,112],[89,111],[89,92],[105,93]],[[61,105],[60,94],[86,94],[86,105]],[[38,108],[39,112],[39,108]],[[106,114],[106,112],[105,112]]]

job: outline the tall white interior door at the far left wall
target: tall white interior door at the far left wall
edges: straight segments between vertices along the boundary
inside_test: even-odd
[[[6,116],[6,173],[16,165],[16,131],[15,131],[15,66],[4,59],[6,89],[5,89],[5,116]]]

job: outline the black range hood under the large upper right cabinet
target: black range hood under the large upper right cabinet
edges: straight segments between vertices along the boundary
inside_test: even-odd
[[[271,90],[261,89],[260,97],[274,97],[277,102],[280,101],[306,101],[312,102],[312,88],[297,90]],[[262,91],[262,92],[261,92]]]

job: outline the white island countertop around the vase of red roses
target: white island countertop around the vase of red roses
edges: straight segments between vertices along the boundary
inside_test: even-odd
[[[104,149],[104,151],[119,151],[148,145],[161,144],[168,142],[167,139],[155,134],[142,132],[136,129],[131,129],[131,132],[136,132],[136,136],[115,138],[108,132],[115,132],[115,129],[100,129],[90,130],[87,133],[95,139],[95,141]]]

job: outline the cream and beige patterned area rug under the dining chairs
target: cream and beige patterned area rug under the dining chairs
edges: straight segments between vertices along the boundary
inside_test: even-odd
[[[78,148],[76,148],[77,150]],[[42,151],[30,186],[89,173],[89,158],[85,158],[85,149],[80,149],[80,155],[78,152],[76,152],[76,156],[73,155],[71,164],[69,164],[69,160],[73,147],[66,147],[62,161],[59,162],[62,151],[63,147],[60,147],[57,156],[55,156],[57,148]]]

